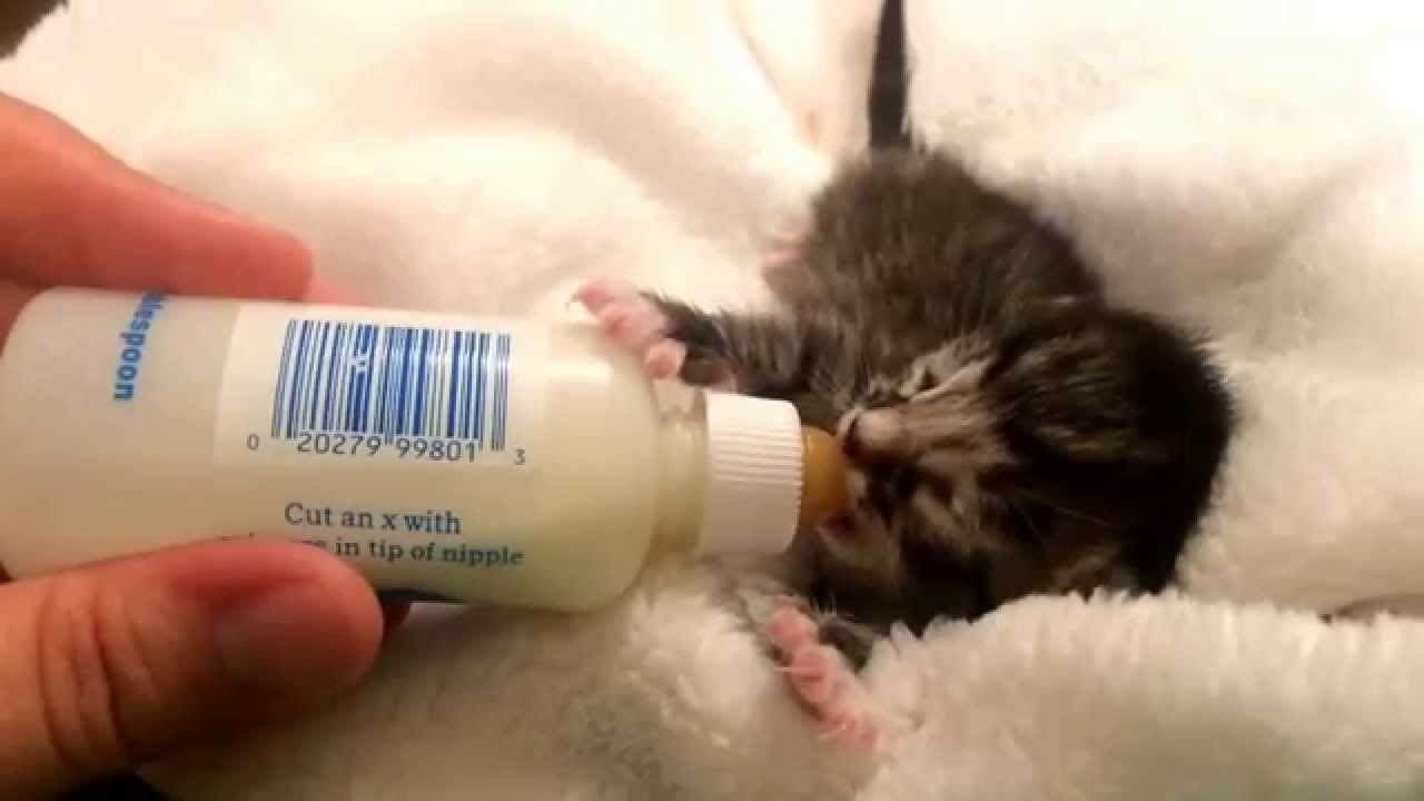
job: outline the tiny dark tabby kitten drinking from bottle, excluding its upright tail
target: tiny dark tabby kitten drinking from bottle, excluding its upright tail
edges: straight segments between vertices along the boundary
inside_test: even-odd
[[[894,623],[1172,580],[1232,430],[1225,382],[1199,342],[1109,304],[1025,208],[943,154],[876,153],[768,281],[770,314],[611,281],[580,298],[652,375],[787,399],[837,435],[853,509],[800,543],[809,603],[766,624],[823,717],[860,723],[820,643],[859,668]]]

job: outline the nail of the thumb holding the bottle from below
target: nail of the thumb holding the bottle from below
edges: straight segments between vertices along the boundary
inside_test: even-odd
[[[330,696],[355,684],[349,616],[316,582],[278,584],[215,611],[218,651],[244,688]]]

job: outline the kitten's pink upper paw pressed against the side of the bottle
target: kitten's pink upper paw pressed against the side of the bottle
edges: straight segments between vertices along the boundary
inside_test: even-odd
[[[594,315],[609,339],[642,358],[651,378],[674,378],[682,371],[686,346],[668,339],[668,316],[632,284],[595,278],[584,284],[574,299]]]

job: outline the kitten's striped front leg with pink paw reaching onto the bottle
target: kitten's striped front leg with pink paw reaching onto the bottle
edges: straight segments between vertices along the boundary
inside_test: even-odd
[[[611,278],[585,284],[574,298],[611,339],[641,353],[654,378],[769,396],[805,389],[803,355],[815,338],[805,325],[772,315],[703,312]]]

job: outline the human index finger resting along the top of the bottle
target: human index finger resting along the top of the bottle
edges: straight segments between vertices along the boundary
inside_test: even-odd
[[[295,299],[312,282],[312,259],[298,239],[168,190],[0,95],[0,275]]]

